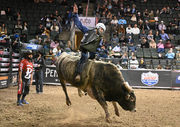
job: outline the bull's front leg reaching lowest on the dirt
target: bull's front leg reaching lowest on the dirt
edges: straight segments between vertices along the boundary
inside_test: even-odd
[[[106,114],[106,121],[110,123],[110,115],[108,112],[108,105],[105,101],[105,98],[104,98],[102,92],[100,90],[96,89],[95,87],[92,88],[92,92],[93,92],[95,99],[99,102],[101,107],[104,109],[104,112]]]

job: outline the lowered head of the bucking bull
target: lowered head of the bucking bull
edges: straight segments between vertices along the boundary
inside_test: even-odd
[[[134,94],[134,91],[127,83],[124,83],[123,88],[124,94],[118,101],[119,105],[121,105],[124,110],[136,111],[136,96]]]

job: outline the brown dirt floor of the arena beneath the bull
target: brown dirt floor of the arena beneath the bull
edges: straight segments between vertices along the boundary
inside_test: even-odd
[[[79,97],[68,87],[72,106],[65,103],[61,86],[44,86],[36,94],[31,86],[29,105],[16,106],[17,86],[0,89],[0,127],[180,127],[180,91],[135,89],[137,112],[124,111],[120,117],[109,105],[111,123],[105,122],[100,105],[89,96]]]

